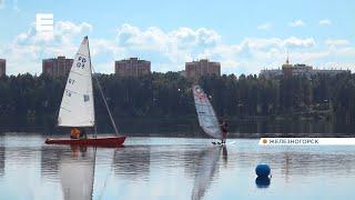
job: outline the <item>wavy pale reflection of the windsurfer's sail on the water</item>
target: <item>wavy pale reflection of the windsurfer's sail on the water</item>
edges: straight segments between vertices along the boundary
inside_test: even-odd
[[[205,194],[205,191],[210,187],[211,181],[216,173],[221,150],[221,147],[212,147],[200,152],[200,157],[196,160],[197,170],[191,199],[199,200]],[[223,148],[223,159],[225,161],[227,159],[225,147]]]

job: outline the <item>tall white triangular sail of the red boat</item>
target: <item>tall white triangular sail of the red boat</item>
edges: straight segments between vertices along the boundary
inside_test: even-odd
[[[93,127],[94,120],[91,60],[89,40],[85,37],[69,72],[58,126]]]

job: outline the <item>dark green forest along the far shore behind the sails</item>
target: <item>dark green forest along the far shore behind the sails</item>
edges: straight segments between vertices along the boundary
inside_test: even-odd
[[[189,119],[197,123],[191,92],[193,81],[178,72],[153,72],[139,78],[95,76],[116,120]],[[29,73],[0,78],[0,118],[53,129],[65,81],[67,78]],[[348,72],[278,79],[214,76],[202,77],[199,83],[216,113],[231,121],[355,122],[355,74]],[[95,82],[94,94],[100,128],[108,117]],[[6,126],[6,121],[1,120],[0,126]]]

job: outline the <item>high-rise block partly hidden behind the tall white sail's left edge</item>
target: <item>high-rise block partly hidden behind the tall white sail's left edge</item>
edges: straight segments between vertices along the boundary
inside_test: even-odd
[[[42,73],[50,77],[65,77],[69,74],[73,59],[58,57],[42,60]]]

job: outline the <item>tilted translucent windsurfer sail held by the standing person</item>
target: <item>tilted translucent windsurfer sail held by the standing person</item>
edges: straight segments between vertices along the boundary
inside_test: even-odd
[[[203,131],[213,138],[222,139],[222,130],[219,120],[207,96],[200,86],[193,87],[193,98],[195,100],[199,122]]]

